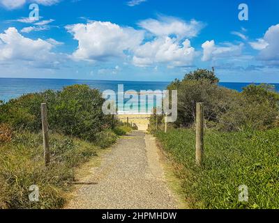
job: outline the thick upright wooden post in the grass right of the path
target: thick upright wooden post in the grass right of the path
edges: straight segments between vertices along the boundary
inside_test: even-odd
[[[196,163],[202,165],[204,153],[204,103],[197,103],[196,111]]]

